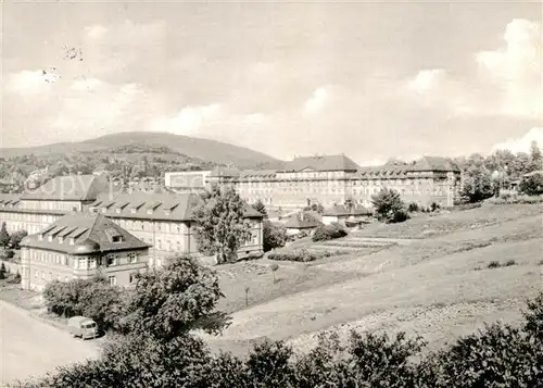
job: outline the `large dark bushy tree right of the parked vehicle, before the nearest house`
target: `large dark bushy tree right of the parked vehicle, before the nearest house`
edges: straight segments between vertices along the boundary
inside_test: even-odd
[[[220,297],[215,273],[190,256],[174,258],[164,268],[138,276],[121,326],[161,340],[192,329],[219,333],[228,323],[215,310]]]

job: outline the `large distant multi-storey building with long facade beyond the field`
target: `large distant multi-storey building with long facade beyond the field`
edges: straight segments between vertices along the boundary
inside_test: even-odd
[[[324,206],[350,200],[369,206],[381,188],[400,192],[406,202],[452,206],[458,197],[459,168],[445,158],[361,167],[345,155],[296,158],[278,171],[216,170],[210,184],[230,184],[248,202],[272,208]]]

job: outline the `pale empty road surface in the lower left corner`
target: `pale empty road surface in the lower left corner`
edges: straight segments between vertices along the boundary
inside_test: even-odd
[[[3,301],[0,301],[0,386],[96,358],[99,352],[96,342],[75,339]]]

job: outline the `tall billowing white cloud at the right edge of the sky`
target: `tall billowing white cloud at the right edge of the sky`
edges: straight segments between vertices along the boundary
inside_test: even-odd
[[[503,47],[476,54],[480,76],[500,91],[497,103],[503,114],[541,118],[541,25],[513,20],[507,24],[503,39]]]

